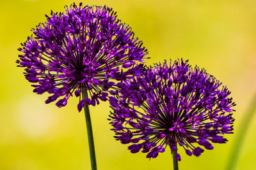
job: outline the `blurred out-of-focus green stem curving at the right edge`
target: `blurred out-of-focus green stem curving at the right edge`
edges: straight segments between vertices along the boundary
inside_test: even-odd
[[[248,126],[250,125],[250,122],[252,121],[255,110],[256,110],[256,94],[253,97],[252,102],[248,107],[248,110],[246,110],[246,113],[244,114],[244,118],[241,122],[241,125],[239,126],[239,131],[237,132],[236,140],[234,141],[234,145],[232,146],[232,150],[228,160],[227,170],[236,169],[236,163],[240,155],[241,146],[243,146],[244,136],[246,134]]]

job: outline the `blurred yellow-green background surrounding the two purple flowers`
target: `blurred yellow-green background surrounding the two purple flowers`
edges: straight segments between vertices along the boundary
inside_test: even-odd
[[[16,67],[20,43],[45,14],[73,1],[0,0],[0,169],[90,169],[83,111],[77,99],[57,108],[32,92]],[[79,3],[79,1],[76,1]],[[225,169],[246,108],[256,94],[256,1],[118,0],[84,1],[113,7],[148,48],[148,64],[189,59],[223,81],[236,101],[235,134],[200,157],[180,149],[180,169]],[[98,169],[172,169],[170,150],[156,159],[132,154],[113,138],[108,103],[90,107]],[[256,169],[256,117],[250,118],[237,169]]]

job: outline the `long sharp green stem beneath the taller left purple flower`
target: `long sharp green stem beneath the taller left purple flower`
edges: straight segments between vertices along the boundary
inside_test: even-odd
[[[83,95],[84,95],[84,99],[88,98],[87,92],[84,92]],[[93,143],[92,122],[90,118],[89,107],[86,103],[84,104],[84,115],[85,115],[85,122],[86,122],[87,135],[88,135],[91,166],[92,166],[92,170],[97,170],[95,149],[94,149],[94,143]]]

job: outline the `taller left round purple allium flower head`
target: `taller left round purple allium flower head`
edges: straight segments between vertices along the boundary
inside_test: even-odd
[[[37,94],[48,92],[45,103],[65,106],[70,96],[79,96],[78,110],[84,103],[106,101],[109,88],[141,74],[147,50],[134,36],[131,27],[116,18],[106,6],[65,7],[65,13],[52,13],[47,22],[33,29],[22,43],[20,67]],[[88,97],[83,97],[83,93]],[[63,97],[62,97],[63,96]],[[82,97],[81,97],[82,96]]]

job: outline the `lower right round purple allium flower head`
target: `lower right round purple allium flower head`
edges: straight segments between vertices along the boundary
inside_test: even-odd
[[[147,67],[144,76],[127,81],[126,89],[110,97],[111,125],[116,140],[131,153],[156,158],[170,146],[177,160],[177,144],[187,155],[200,156],[212,143],[226,143],[233,133],[230,91],[204,69],[182,59]],[[196,144],[197,143],[197,144]],[[201,146],[198,146],[201,145]]]

